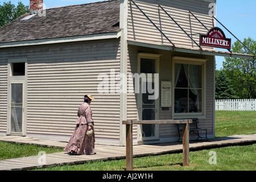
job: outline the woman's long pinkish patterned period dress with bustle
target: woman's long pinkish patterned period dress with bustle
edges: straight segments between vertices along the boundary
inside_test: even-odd
[[[94,130],[94,123],[92,119],[92,110],[90,105],[84,102],[80,105],[77,111],[77,116],[79,117],[76,121],[76,128],[69,139],[67,146],[64,148],[67,152],[76,152],[77,155],[86,154],[92,155],[96,154],[94,152],[95,135],[88,137],[86,131],[88,130],[88,125]]]

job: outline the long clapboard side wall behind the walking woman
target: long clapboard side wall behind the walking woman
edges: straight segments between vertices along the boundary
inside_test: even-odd
[[[119,94],[99,93],[97,88],[100,73],[118,82],[110,71],[114,76],[120,72],[119,39],[8,48],[0,53],[0,131],[6,131],[7,59],[26,57],[27,135],[71,136],[83,97],[92,94],[96,137],[119,140]]]

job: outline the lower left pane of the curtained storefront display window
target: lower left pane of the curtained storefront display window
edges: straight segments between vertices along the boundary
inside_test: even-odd
[[[188,89],[175,89],[175,113],[188,113]]]

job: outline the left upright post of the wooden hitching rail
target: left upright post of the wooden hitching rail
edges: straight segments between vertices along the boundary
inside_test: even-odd
[[[133,121],[126,125],[126,171],[133,171]]]

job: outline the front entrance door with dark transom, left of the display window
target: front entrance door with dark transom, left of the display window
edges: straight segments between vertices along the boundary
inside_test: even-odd
[[[139,57],[139,73],[141,80],[139,84],[140,92],[138,97],[139,104],[139,120],[158,120],[159,98],[155,97],[156,89],[159,85],[156,84],[156,75],[159,73],[159,55],[143,55]],[[158,79],[158,77],[157,77]],[[154,140],[159,138],[159,126],[154,125],[139,125],[138,126],[139,140]]]

